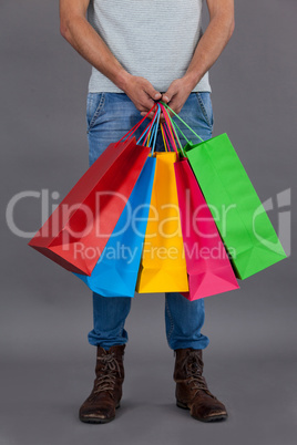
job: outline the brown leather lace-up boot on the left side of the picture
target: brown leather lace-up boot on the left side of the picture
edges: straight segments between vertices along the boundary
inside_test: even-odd
[[[86,423],[107,423],[114,420],[120,406],[124,380],[125,344],[109,351],[98,346],[94,387],[80,408],[80,420]]]

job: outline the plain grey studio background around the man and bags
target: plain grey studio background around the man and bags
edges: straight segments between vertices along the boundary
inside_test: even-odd
[[[116,421],[80,423],[95,363],[90,292],[11,234],[4,210],[21,190],[63,197],[86,169],[90,66],[59,34],[58,1],[7,1],[0,12],[0,444],[296,444],[294,256],[205,300],[205,375],[228,422],[202,424],[175,406],[164,296],[147,294],[127,320]],[[295,0],[237,1],[235,33],[211,71],[215,134],[228,133],[263,200],[296,185],[296,13]],[[40,203],[21,201],[14,218],[37,230]]]

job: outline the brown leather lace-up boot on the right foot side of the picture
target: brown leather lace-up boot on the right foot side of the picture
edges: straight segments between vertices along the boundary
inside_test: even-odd
[[[202,373],[202,350],[175,350],[176,405],[190,410],[192,417],[198,421],[222,421],[228,416],[226,407],[211,393]]]

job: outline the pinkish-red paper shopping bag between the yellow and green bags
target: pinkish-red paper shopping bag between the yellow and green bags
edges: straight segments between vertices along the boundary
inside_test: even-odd
[[[237,289],[233,268],[186,158],[174,164],[188,275],[188,300]]]

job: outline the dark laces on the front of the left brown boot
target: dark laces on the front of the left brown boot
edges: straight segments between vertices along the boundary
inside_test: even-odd
[[[114,353],[98,356],[102,362],[101,372],[103,375],[95,380],[94,391],[91,399],[94,399],[98,393],[106,391],[113,399],[113,390],[116,382],[116,376],[121,377],[121,369]]]

